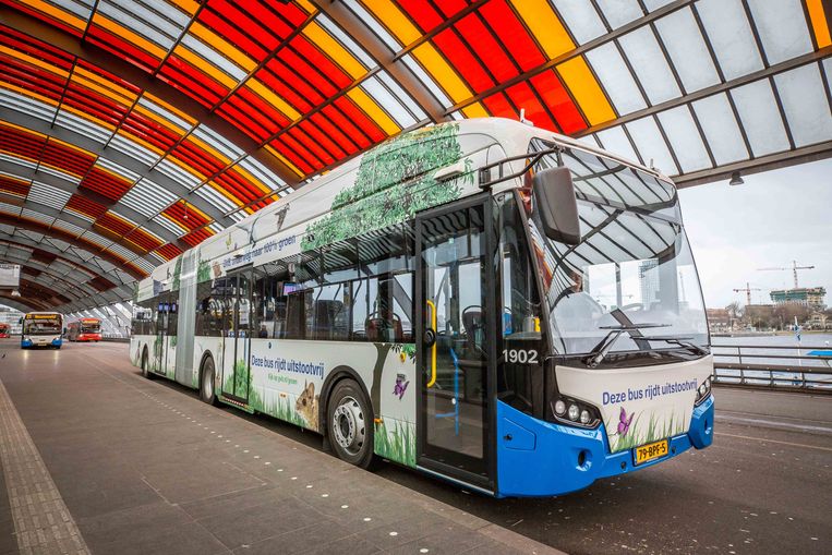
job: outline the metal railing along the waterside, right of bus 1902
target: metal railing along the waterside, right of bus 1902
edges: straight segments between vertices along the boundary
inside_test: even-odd
[[[832,394],[832,357],[808,355],[827,347],[712,345],[716,384]]]

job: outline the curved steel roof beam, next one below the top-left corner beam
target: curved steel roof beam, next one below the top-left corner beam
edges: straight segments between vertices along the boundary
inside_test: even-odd
[[[147,166],[140,162],[135,158],[122,154],[112,147],[101,148],[100,143],[93,141],[92,138],[88,138],[81,133],[70,131],[65,128],[51,128],[47,122],[43,120],[32,118],[17,111],[3,110],[2,120],[14,123],[15,125],[20,125],[22,128],[26,128],[31,131],[43,133],[44,135],[60,138],[61,141],[65,141],[67,143],[88,150],[94,155],[100,156],[107,160],[123,166],[133,173],[137,173],[140,177],[147,178],[154,183],[164,186],[166,191],[170,192],[174,196],[188,201],[189,204],[195,206],[222,226],[228,227],[233,225],[233,220],[226,217],[219,208],[214,207],[213,205],[205,202],[202,197],[191,193],[191,191],[183,184],[172,180],[155,168],[148,169]]]

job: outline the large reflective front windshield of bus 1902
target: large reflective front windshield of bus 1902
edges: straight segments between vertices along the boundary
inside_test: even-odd
[[[588,153],[567,150],[562,159],[574,174],[581,242],[551,241],[532,221],[555,350],[589,353],[618,330],[610,352],[707,346],[702,293],[674,188]]]

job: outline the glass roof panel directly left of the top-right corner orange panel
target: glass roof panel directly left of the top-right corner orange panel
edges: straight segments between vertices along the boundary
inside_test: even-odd
[[[748,0],[770,64],[811,52],[800,0]]]

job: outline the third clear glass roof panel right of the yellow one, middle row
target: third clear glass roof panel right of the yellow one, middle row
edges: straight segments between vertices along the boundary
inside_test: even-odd
[[[690,8],[665,15],[655,26],[687,93],[720,82]]]

